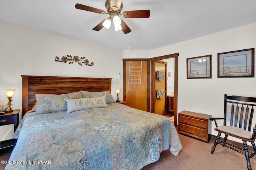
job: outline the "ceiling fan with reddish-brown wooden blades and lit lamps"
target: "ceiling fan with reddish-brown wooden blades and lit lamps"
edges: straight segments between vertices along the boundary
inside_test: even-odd
[[[100,31],[100,29],[103,27],[109,29],[111,22],[113,21],[115,31],[122,29],[125,34],[131,32],[132,30],[126,25],[124,20],[119,18],[119,16],[124,18],[149,18],[150,16],[150,10],[125,11],[123,14],[121,14],[121,10],[123,8],[122,0],[106,0],[105,6],[108,13],[106,13],[104,10],[82,4],[76,4],[76,9],[95,12],[98,14],[109,14],[110,17],[101,21],[98,25],[96,25],[96,27],[93,28],[93,30]]]

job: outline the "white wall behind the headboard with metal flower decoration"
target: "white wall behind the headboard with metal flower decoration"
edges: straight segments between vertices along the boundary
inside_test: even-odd
[[[86,57],[94,66],[54,61],[63,55]],[[118,72],[121,79],[115,78]],[[0,20],[0,100],[7,104],[5,89],[16,89],[14,109],[22,109],[21,75],[112,78],[112,96],[116,100],[120,88],[123,99],[121,50]]]

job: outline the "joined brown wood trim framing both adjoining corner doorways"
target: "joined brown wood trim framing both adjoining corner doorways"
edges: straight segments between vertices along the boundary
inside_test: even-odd
[[[123,59],[123,80],[124,80],[124,84],[123,84],[123,88],[124,88],[124,101],[126,101],[126,62],[127,61],[147,61],[147,70],[148,70],[148,74],[147,74],[147,110],[154,110],[154,105],[152,104],[152,100],[150,102],[150,98],[152,97],[152,90],[154,89],[154,79],[151,75],[154,75],[154,69],[150,68],[150,65],[152,66],[152,62],[156,61],[156,60],[163,60],[163,59],[170,59],[170,58],[174,58],[174,126],[177,127],[177,117],[178,117],[178,56],[179,53],[174,53],[174,54],[170,54],[170,55],[164,55],[164,56],[159,56],[159,57],[153,57],[150,59]],[[151,84],[150,84],[151,82]],[[153,98],[154,99],[154,98]],[[152,109],[153,107],[153,109]]]

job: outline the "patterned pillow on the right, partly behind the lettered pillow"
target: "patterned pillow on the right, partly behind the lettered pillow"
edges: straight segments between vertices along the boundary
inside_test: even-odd
[[[113,96],[111,95],[110,91],[104,92],[87,92],[87,91],[80,91],[82,93],[83,98],[96,98],[100,96],[106,96],[106,103],[116,103]]]

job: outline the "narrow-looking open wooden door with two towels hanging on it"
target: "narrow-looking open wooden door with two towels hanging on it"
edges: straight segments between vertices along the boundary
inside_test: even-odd
[[[166,113],[166,73],[167,63],[163,61],[154,61],[154,73],[155,73],[155,95],[154,95],[154,113],[165,114]],[[164,80],[160,80],[157,77],[157,72],[164,72]],[[157,91],[164,90],[163,98],[157,98]]]

